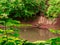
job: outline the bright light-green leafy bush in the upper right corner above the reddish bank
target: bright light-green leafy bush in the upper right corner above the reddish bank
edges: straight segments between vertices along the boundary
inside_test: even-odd
[[[49,0],[49,7],[47,9],[47,16],[55,18],[60,14],[60,0]]]

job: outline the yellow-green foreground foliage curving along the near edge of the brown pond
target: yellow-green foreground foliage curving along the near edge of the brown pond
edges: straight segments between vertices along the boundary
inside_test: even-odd
[[[8,35],[5,35],[7,32]],[[9,35],[11,33],[11,35]],[[0,29],[0,44],[1,45],[60,45],[60,37],[52,38],[47,41],[29,42],[20,40],[19,38],[12,36],[13,30]]]

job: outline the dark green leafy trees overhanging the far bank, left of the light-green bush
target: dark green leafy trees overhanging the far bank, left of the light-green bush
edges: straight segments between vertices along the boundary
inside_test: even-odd
[[[44,6],[44,0],[0,0],[0,15],[27,20],[37,12],[44,10]]]

